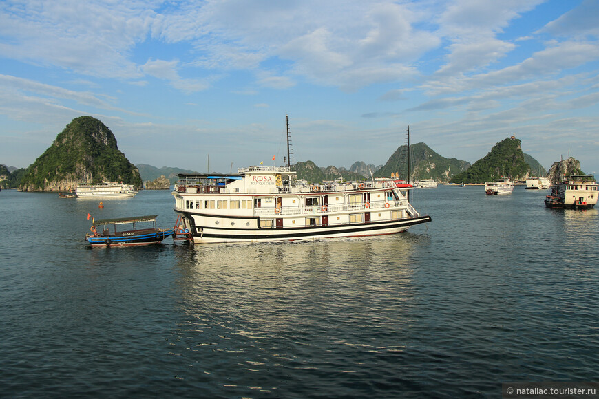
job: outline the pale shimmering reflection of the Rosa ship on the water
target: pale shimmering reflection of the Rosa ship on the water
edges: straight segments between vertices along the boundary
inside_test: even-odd
[[[204,369],[229,380],[231,393],[242,387],[281,393],[282,383],[305,389],[310,379],[374,373],[359,354],[401,352],[398,334],[413,321],[414,241],[403,234],[178,246],[181,320],[171,352],[233,358],[222,361],[227,369],[218,362]],[[314,357],[326,352],[331,363]]]

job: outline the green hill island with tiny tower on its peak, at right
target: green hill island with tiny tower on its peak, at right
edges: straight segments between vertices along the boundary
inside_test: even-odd
[[[529,175],[530,165],[525,161],[520,144],[520,140],[514,136],[498,142],[490,153],[462,173],[454,175],[450,182],[482,184],[502,176],[512,180],[525,179]]]

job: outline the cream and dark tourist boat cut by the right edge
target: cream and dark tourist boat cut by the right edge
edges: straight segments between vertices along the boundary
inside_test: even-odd
[[[597,204],[598,185],[593,175],[571,175],[554,184],[545,206],[552,209],[589,209]]]

